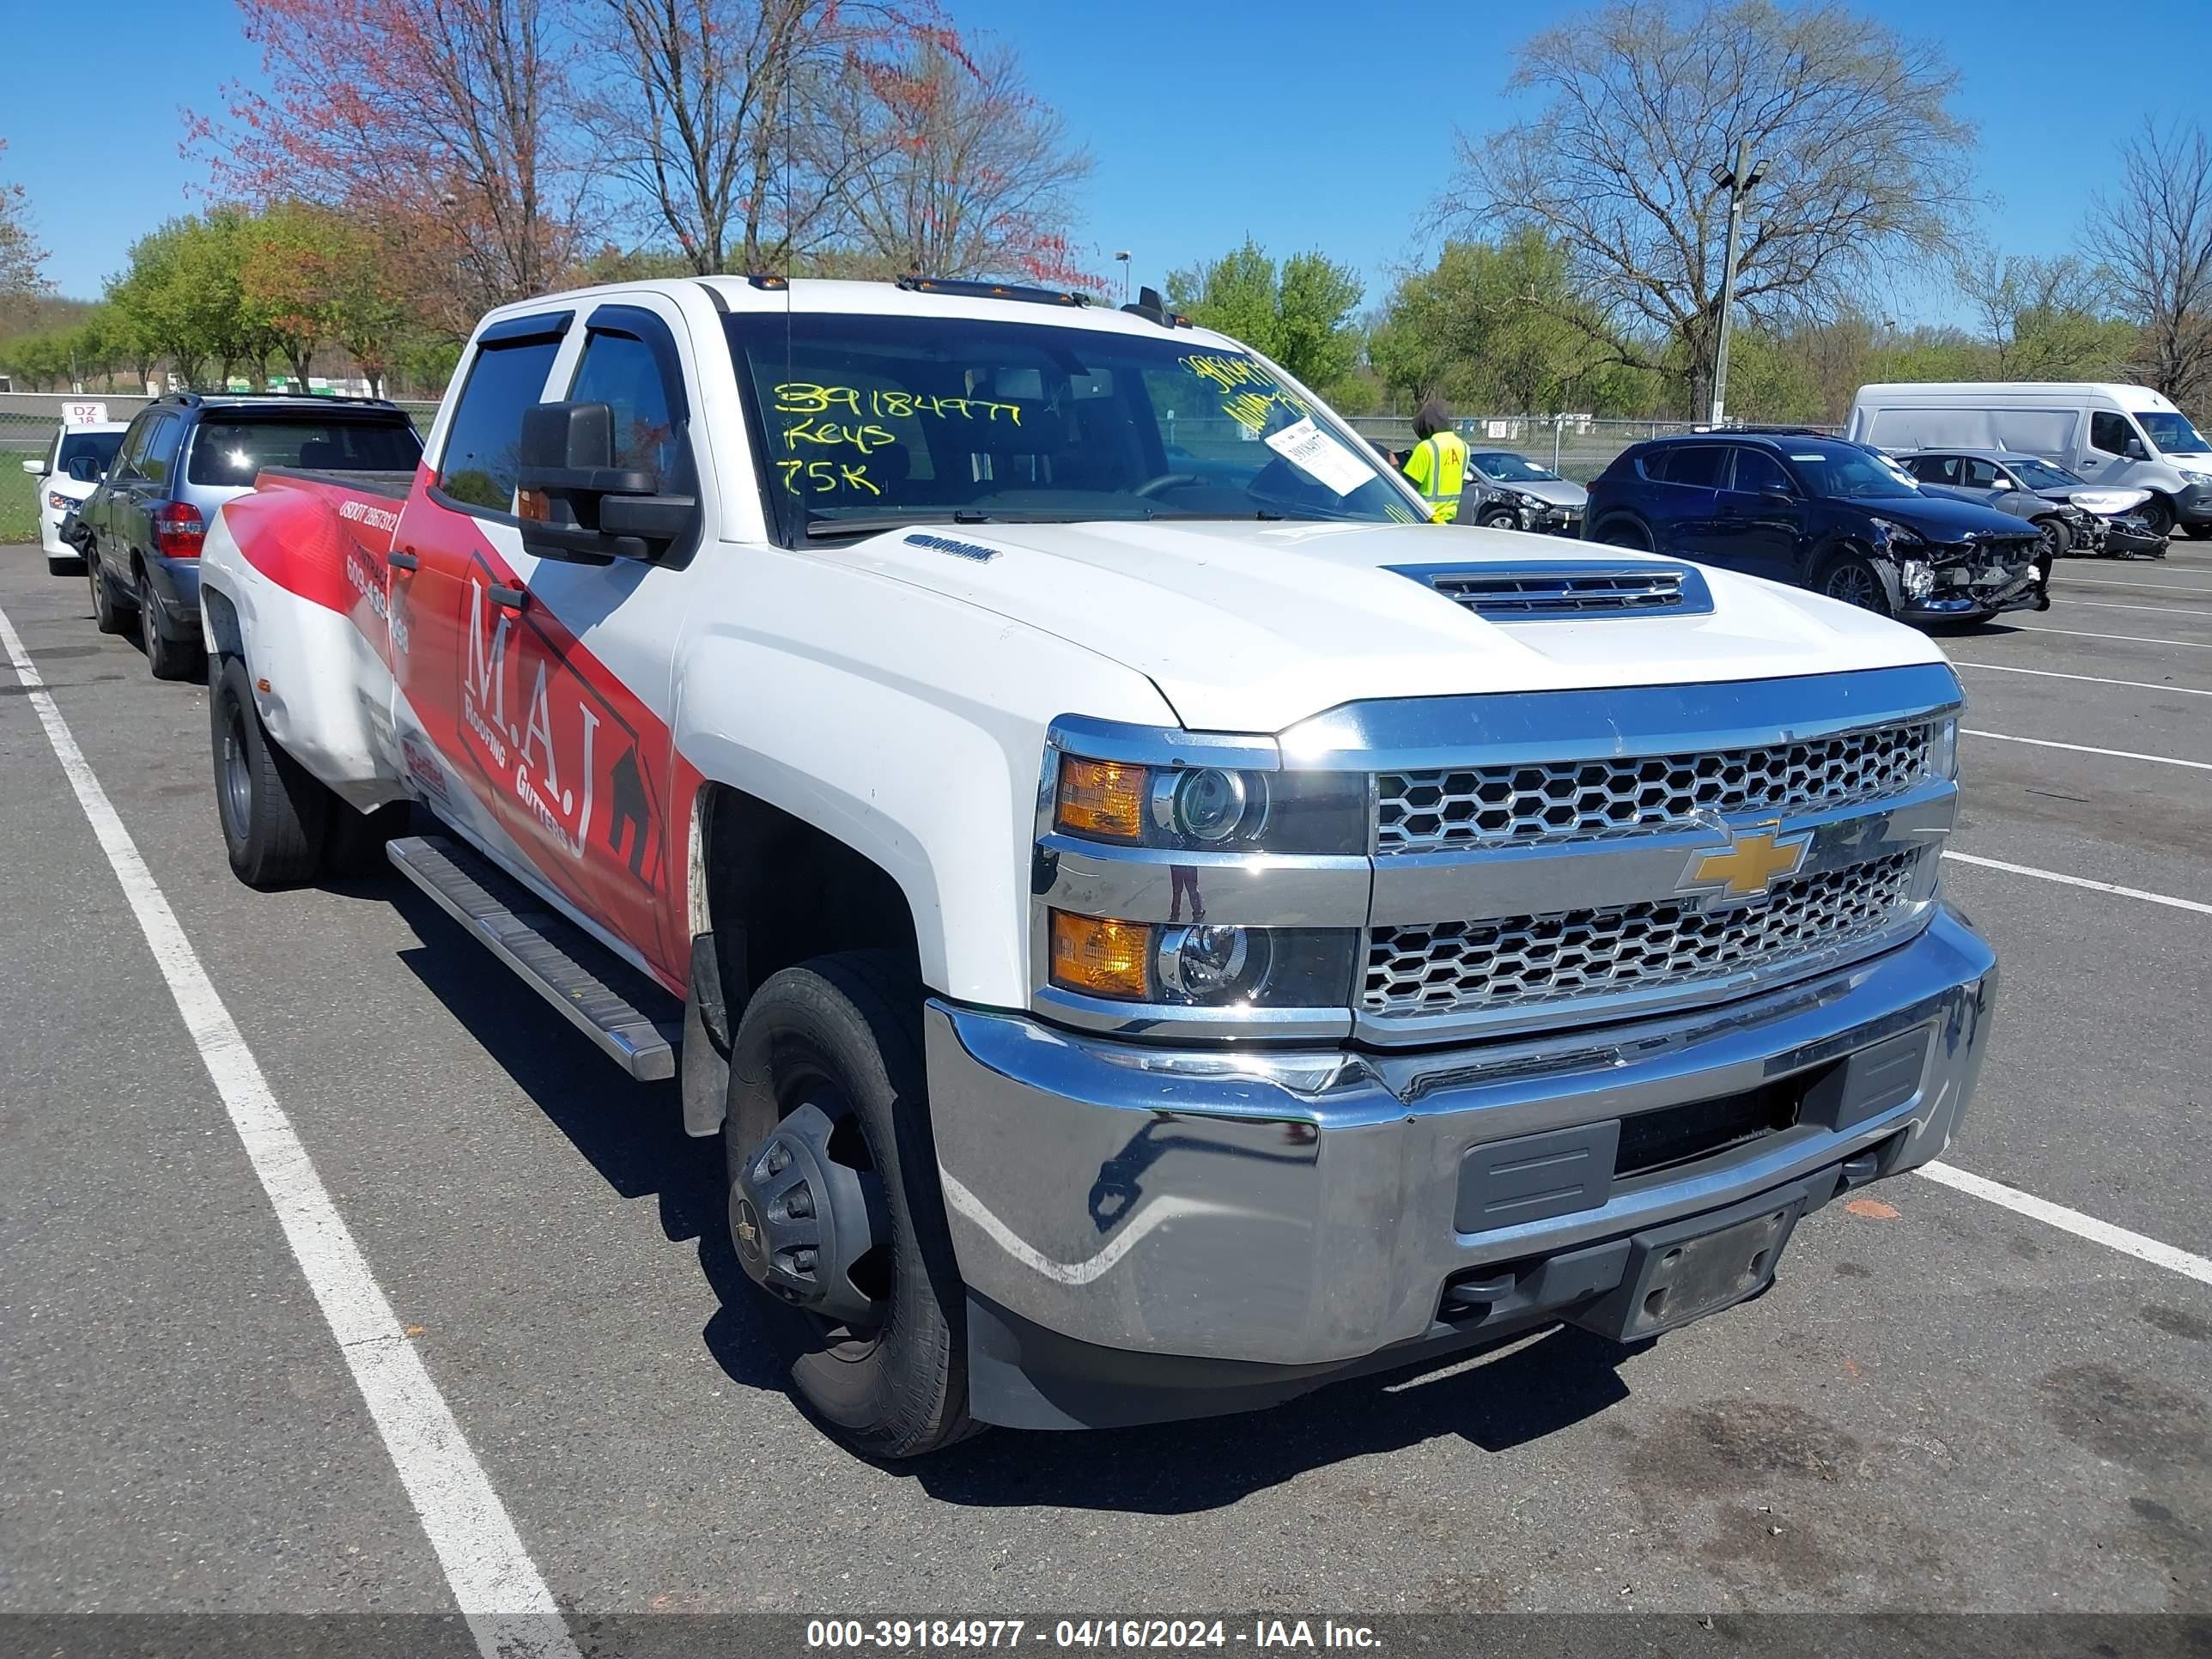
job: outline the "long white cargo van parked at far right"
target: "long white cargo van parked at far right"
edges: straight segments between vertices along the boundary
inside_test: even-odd
[[[2008,449],[2097,484],[2148,489],[2161,535],[2212,535],[2212,442],[2141,385],[1955,380],[1863,385],[1845,436],[1876,449]]]

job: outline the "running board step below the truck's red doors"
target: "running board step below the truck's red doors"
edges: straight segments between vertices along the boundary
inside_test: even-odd
[[[429,894],[478,945],[568,1015],[606,1057],[639,1082],[677,1075],[679,1024],[659,1024],[622,991],[644,982],[613,951],[546,909],[529,887],[489,858],[445,836],[407,836],[385,847],[398,872]]]

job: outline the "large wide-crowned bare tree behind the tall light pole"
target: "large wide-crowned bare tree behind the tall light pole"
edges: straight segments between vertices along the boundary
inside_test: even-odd
[[[1621,363],[1703,407],[1719,332],[1728,190],[1714,164],[1747,139],[1736,301],[1765,323],[1834,316],[1966,219],[1951,115],[1958,71],[1836,4],[1615,0],[1533,35],[1509,88],[1537,113],[1460,137],[1444,228],[1533,226],[1566,248],[1575,316]]]

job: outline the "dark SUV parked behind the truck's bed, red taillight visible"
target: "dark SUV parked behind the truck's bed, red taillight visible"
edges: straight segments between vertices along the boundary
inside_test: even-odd
[[[411,471],[407,411],[380,398],[283,394],[155,398],[77,509],[75,546],[100,633],[135,628],[155,679],[199,672],[199,544],[223,502],[270,467]]]

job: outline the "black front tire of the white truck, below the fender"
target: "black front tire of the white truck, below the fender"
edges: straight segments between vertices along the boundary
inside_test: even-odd
[[[967,1294],[938,1190],[920,1013],[920,982],[894,958],[821,956],[770,978],[730,1044],[723,1157],[739,1263],[757,1283],[776,1283],[763,1265],[776,1232],[748,1192],[761,1190],[785,1119],[807,1124],[812,1144],[838,1166],[823,1183],[847,1194],[836,1230],[872,1234],[836,1285],[847,1307],[858,1290],[865,1316],[812,1312],[794,1305],[790,1290],[761,1296],[801,1402],[872,1458],[920,1458],[975,1429],[967,1413]],[[865,1208],[854,1197],[863,1190]],[[805,1214],[823,1201],[810,1192]]]

